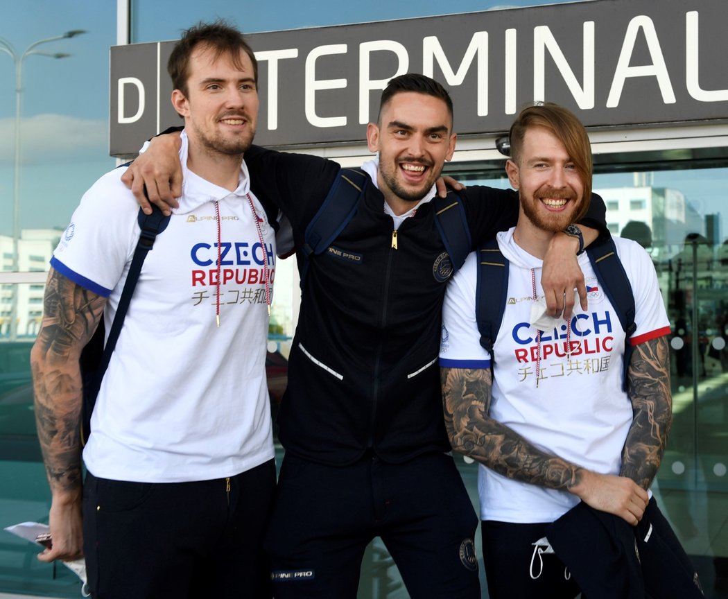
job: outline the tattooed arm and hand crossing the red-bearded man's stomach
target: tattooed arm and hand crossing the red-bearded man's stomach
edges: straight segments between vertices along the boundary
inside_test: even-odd
[[[501,475],[574,493],[595,509],[635,525],[647,493],[623,476],[601,475],[542,451],[488,416],[493,382],[488,369],[440,368],[445,426],[450,443]]]

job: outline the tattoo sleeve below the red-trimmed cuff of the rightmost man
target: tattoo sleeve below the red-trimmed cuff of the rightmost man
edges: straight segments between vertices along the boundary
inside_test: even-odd
[[[667,337],[635,346],[627,385],[633,420],[622,449],[620,475],[631,478],[646,489],[660,467],[672,423]]]

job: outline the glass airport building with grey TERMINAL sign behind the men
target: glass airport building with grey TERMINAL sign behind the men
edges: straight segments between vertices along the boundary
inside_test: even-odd
[[[47,522],[28,354],[52,250],[96,178],[180,124],[166,72],[173,41],[199,20],[224,17],[256,51],[264,146],[360,166],[371,158],[365,129],[381,90],[406,72],[451,93],[458,139],[446,172],[466,184],[509,186],[506,135],[527,103],[560,103],[582,119],[609,229],[649,252],[670,318],[674,422],[653,491],[706,597],[728,597],[728,3],[452,0],[445,15],[434,1],[248,4],[31,0],[4,10],[0,527]],[[274,408],[298,298],[295,260],[280,261],[269,336]],[[580,359],[577,373],[590,368]],[[456,459],[477,501],[477,465]],[[79,596],[74,574],[0,536],[0,597]],[[368,549],[359,596],[408,596],[381,542]]]

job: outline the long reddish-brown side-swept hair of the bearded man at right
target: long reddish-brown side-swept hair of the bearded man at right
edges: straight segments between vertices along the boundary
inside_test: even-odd
[[[544,127],[561,141],[569,158],[574,162],[574,167],[581,175],[584,184],[584,202],[579,214],[574,215],[574,222],[579,221],[585,215],[591,201],[593,168],[587,130],[577,116],[563,106],[552,102],[538,102],[534,106],[527,106],[510,127],[510,156],[516,164],[521,160],[526,131],[532,127]]]

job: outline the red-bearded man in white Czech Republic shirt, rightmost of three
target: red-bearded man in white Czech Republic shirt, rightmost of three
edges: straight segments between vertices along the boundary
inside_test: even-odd
[[[568,321],[548,317],[539,284],[551,237],[580,218],[590,197],[587,133],[566,109],[539,103],[518,116],[510,144],[506,171],[521,209],[515,228],[497,235],[509,263],[508,299],[492,355],[480,345],[475,316],[478,252],[448,287],[440,344],[448,436],[455,451],[480,462],[489,595],[566,599],[581,590],[590,599],[631,597],[637,587],[654,589],[646,568],[657,552],[654,539],[665,538],[678,555],[675,576],[697,595],[695,571],[649,493],[671,421],[670,326],[652,261],[635,242],[614,239],[636,305],[625,392],[625,331],[587,255],[579,255],[587,312],[577,309]],[[566,525],[549,527],[562,516]],[[655,532],[641,547],[649,555],[640,571],[635,539],[645,522]],[[620,580],[619,591],[587,587],[617,584],[620,576],[600,569],[609,556],[596,547],[625,538],[628,549],[614,563],[637,560],[634,570],[616,568],[634,578]],[[584,550],[574,551],[581,542]],[[693,596],[687,593],[652,596]]]

